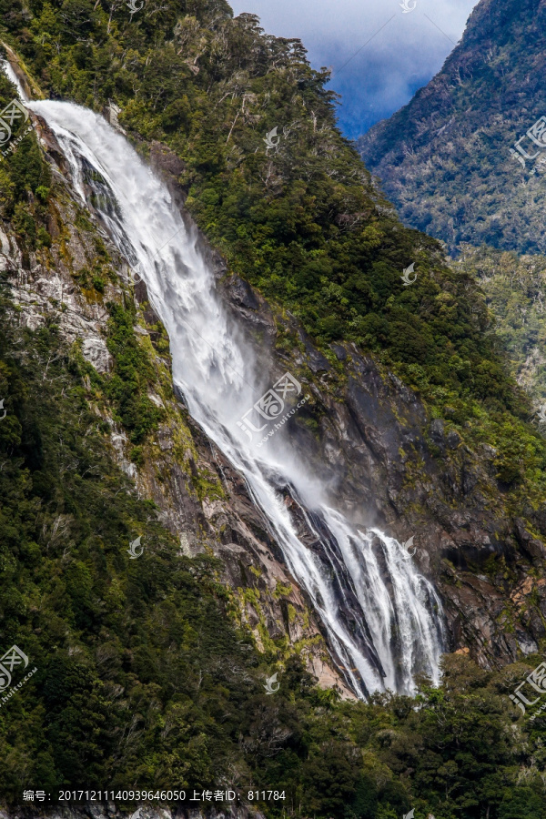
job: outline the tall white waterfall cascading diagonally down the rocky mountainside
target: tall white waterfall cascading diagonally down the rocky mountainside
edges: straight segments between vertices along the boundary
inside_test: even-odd
[[[439,682],[440,600],[399,542],[379,530],[359,531],[332,509],[319,478],[281,430],[274,446],[258,449],[238,428],[270,383],[217,298],[197,236],[167,187],[101,116],[71,103],[28,106],[56,134],[84,203],[87,183],[95,180],[94,207],[146,282],[190,413],[245,476],[350,687],[359,696],[384,689],[412,693],[416,672]],[[310,546],[298,532],[301,521],[314,539]]]

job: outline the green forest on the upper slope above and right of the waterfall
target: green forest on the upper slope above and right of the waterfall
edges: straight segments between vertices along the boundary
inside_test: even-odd
[[[298,40],[264,35],[219,0],[191,10],[166,0],[133,17],[106,0],[32,9],[16,46],[45,93],[96,109],[111,99],[129,131],[174,150],[187,207],[230,268],[319,344],[353,340],[402,375],[419,365],[432,382],[519,410],[473,279],[399,225],[339,134],[328,72],[310,68]],[[405,288],[411,261],[418,278]]]

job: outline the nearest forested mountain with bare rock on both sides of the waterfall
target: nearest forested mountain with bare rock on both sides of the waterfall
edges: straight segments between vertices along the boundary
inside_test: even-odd
[[[139,815],[195,816],[161,792],[234,788],[241,806],[207,815],[544,819],[546,717],[509,695],[546,640],[546,442],[480,259],[453,268],[403,227],[298,41],[221,0],[138,5],[0,0],[3,52],[33,100],[103,114],[197,223],[192,252],[248,349],[305,384],[287,425],[298,465],[374,527],[370,554],[378,528],[396,555],[414,534],[443,677],[417,674],[411,694],[354,684],[324,601],[173,382],[177,339],[112,227],[147,190],[122,208],[54,131],[63,108],[29,102],[32,133],[15,123],[0,162],[0,635],[36,671],[0,703],[0,806],[65,815],[59,789],[146,788],[160,795]],[[2,109],[14,97],[1,76]],[[291,490],[279,483],[279,506],[324,562],[320,520]],[[22,810],[29,788],[51,804]],[[249,805],[264,789],[284,795]],[[112,801],[70,811],[136,810]]]

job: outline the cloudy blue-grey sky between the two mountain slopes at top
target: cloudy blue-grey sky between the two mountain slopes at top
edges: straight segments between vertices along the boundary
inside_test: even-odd
[[[404,13],[402,2],[415,7]],[[268,34],[299,37],[314,68],[331,66],[329,87],[343,96],[339,125],[356,138],[407,103],[439,71],[477,0],[230,3],[236,15],[258,15]]]

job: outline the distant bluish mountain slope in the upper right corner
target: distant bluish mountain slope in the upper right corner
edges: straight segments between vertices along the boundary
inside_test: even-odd
[[[460,242],[544,252],[544,167],[526,132],[546,112],[546,5],[481,0],[440,73],[359,139],[403,221]]]

